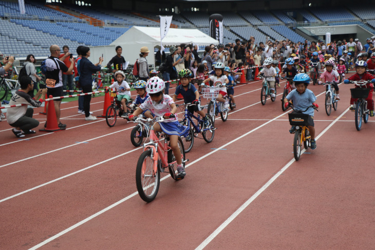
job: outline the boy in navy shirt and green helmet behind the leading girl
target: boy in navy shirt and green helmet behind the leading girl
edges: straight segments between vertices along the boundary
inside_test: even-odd
[[[208,117],[206,117],[205,113],[200,108],[199,92],[194,87],[194,85],[190,83],[190,79],[192,78],[192,76],[193,74],[190,69],[181,69],[180,71],[178,71],[178,77],[181,84],[176,87],[173,101],[176,102],[177,95],[181,94],[184,103],[195,104],[194,106],[188,107],[189,112],[194,113],[194,111],[196,111],[198,114],[200,114],[200,116],[203,118],[204,126],[208,127],[210,125],[210,122]]]

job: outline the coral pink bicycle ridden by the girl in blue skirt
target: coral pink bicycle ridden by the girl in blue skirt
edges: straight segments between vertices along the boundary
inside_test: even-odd
[[[174,118],[172,115],[170,118]],[[154,119],[143,119],[135,118],[133,122],[140,123],[146,126],[145,122],[152,124],[149,131],[149,142],[143,144],[143,152],[138,159],[136,169],[136,183],[139,196],[146,202],[151,202],[155,199],[158,194],[160,185],[160,172],[164,172],[167,168],[170,175],[174,180],[181,180],[176,174],[177,162],[173,155],[173,151],[168,145],[169,137],[167,134],[161,132],[160,138],[158,138],[154,131],[154,125],[158,121],[163,121],[162,117]],[[164,138],[164,143],[162,143]],[[181,151],[182,165],[185,167],[185,162],[189,159],[185,159],[185,151],[183,148],[181,138],[178,138],[178,146]]]

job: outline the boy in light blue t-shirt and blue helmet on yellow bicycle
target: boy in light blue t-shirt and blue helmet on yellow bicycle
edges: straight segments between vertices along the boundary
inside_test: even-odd
[[[290,93],[284,99],[284,106],[288,108],[289,105],[293,103],[294,108],[299,109],[299,110],[305,110],[311,105],[314,105],[316,108],[318,108],[318,105],[315,103],[316,97],[314,93],[310,89],[307,89],[307,85],[309,85],[310,83],[309,75],[305,73],[296,74],[294,76],[293,81],[295,83],[296,89],[293,89],[292,91],[290,91]],[[311,149],[315,149],[316,142],[315,142],[315,128],[314,128],[314,109],[310,107],[303,113],[310,115],[307,121],[307,127],[310,130]],[[292,126],[289,132],[294,133],[295,126]]]

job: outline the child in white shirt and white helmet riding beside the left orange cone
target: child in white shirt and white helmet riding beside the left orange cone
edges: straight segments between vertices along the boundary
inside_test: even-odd
[[[122,112],[120,114],[121,117],[126,118],[126,114],[122,114],[126,112],[126,102],[130,100],[130,86],[127,84],[125,79],[125,74],[123,71],[119,70],[115,73],[116,82],[105,89],[108,92],[111,88],[116,88],[117,91],[117,101],[121,102],[122,105]]]

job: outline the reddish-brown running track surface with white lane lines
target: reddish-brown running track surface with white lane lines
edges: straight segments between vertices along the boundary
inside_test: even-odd
[[[136,190],[133,123],[86,122],[76,102],[62,104],[65,131],[17,140],[0,123],[0,248],[374,249],[375,123],[355,129],[352,86],[340,85],[329,117],[324,87],[309,87],[320,105],[317,148],[298,162],[282,88],[262,106],[260,87],[235,88],[237,108],[217,118],[214,141],[196,139],[186,178],[163,174],[149,204]],[[91,111],[102,114],[103,97]]]

